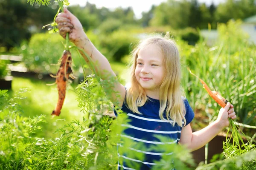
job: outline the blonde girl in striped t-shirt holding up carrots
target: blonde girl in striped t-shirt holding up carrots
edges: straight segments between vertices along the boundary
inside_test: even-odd
[[[116,77],[108,60],[90,42],[81,23],[70,11],[65,8],[64,13],[58,14],[56,22],[61,36],[65,38],[69,32],[70,40],[89,54],[93,63],[97,63],[94,66],[101,79]],[[82,52],[81,54],[89,62]],[[194,118],[194,112],[187,99],[181,95],[180,79],[179,52],[168,35],[164,38],[148,38],[134,49],[131,87],[126,89],[117,82],[114,89],[111,89],[113,94],[107,94],[111,102],[122,107],[122,111],[131,119],[129,125],[122,125],[127,127],[125,134],[121,135],[123,139],[143,142],[149,148],[154,144],[164,144],[154,137],[158,134],[174,140],[167,144],[179,143],[190,150],[197,150],[229,125],[228,118],[236,118],[233,105],[228,102],[225,108],[220,109],[215,122],[192,133],[190,122]],[[116,91],[119,95],[116,95]],[[145,159],[138,160],[119,154],[124,160],[122,164],[118,164],[119,168],[134,170],[131,163],[134,161],[141,164],[140,169],[147,170],[156,165],[154,161],[163,155],[146,149],[130,149],[134,154],[144,153]],[[130,163],[125,164],[128,161]]]

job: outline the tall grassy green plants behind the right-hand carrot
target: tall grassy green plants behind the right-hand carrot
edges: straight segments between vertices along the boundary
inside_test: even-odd
[[[237,22],[219,25],[218,31],[218,41],[212,47],[203,40],[195,46],[178,41],[186,96],[189,96],[192,108],[205,110],[209,120],[216,118],[219,106],[209,98],[201,82],[189,75],[185,65],[212,91],[220,92],[228,101],[233,100],[238,121],[253,125],[256,116],[256,47],[241,33]]]

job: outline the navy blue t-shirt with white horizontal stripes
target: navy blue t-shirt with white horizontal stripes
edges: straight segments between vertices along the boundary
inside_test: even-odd
[[[192,119],[194,118],[194,112],[190,107],[187,99],[184,99],[185,108],[186,108],[186,125],[188,125]],[[152,166],[156,165],[154,161],[159,161],[161,159],[161,155],[163,153],[154,152],[154,150],[148,150],[152,145],[164,144],[160,142],[159,139],[154,137],[154,135],[163,135],[168,137],[170,141],[168,144],[177,144],[180,140],[180,132],[182,127],[178,126],[175,123],[175,126],[172,126],[169,121],[161,120],[159,117],[159,109],[160,109],[160,101],[157,99],[152,99],[148,97],[147,102],[142,107],[138,107],[138,110],[142,114],[137,114],[132,112],[129,108],[122,105],[122,111],[127,113],[128,119],[131,120],[129,124],[122,124],[123,127],[127,127],[124,130],[123,134],[121,134],[122,139],[131,139],[134,142],[143,143],[145,147],[144,149],[137,149],[133,147],[129,147],[129,151],[134,152],[132,155],[136,154],[145,154],[144,160],[134,159],[134,157],[129,157],[125,153],[119,153],[118,156],[122,157],[122,164],[118,163],[118,169],[124,170],[135,170],[134,167],[131,167],[132,163],[140,164],[140,170],[148,170],[151,169]],[[117,113],[115,111],[115,115]],[[163,114],[165,115],[165,113]],[[165,117],[165,116],[164,116]],[[165,117],[166,118],[166,117]],[[118,119],[118,118],[117,118]],[[166,143],[165,143],[166,144]],[[119,147],[122,147],[122,144],[118,144],[117,150]],[[168,154],[168,153],[167,153]],[[172,154],[172,153],[169,153]],[[130,154],[131,155],[131,154]],[[130,166],[127,162],[130,162]],[[159,165],[157,165],[159,166]],[[161,168],[160,168],[161,169]]]

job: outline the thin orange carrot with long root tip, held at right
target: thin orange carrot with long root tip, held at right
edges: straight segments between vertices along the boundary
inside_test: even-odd
[[[192,74],[193,76],[197,77],[195,74],[193,74],[191,72],[191,70],[188,68],[190,74]],[[211,91],[210,88],[208,87],[208,85],[199,77],[197,77],[200,82],[203,84],[203,87],[205,88],[205,90],[207,91],[207,93],[212,97],[212,99],[215,100],[215,102],[217,102],[222,108],[224,108],[227,105],[227,100],[224,99],[224,97],[221,96],[221,94],[219,94],[217,91]]]

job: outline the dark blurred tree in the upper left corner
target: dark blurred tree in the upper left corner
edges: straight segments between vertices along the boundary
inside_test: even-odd
[[[23,39],[29,39],[32,28],[41,30],[55,13],[50,7],[32,7],[26,0],[0,0],[0,46],[9,51],[20,45]]]

